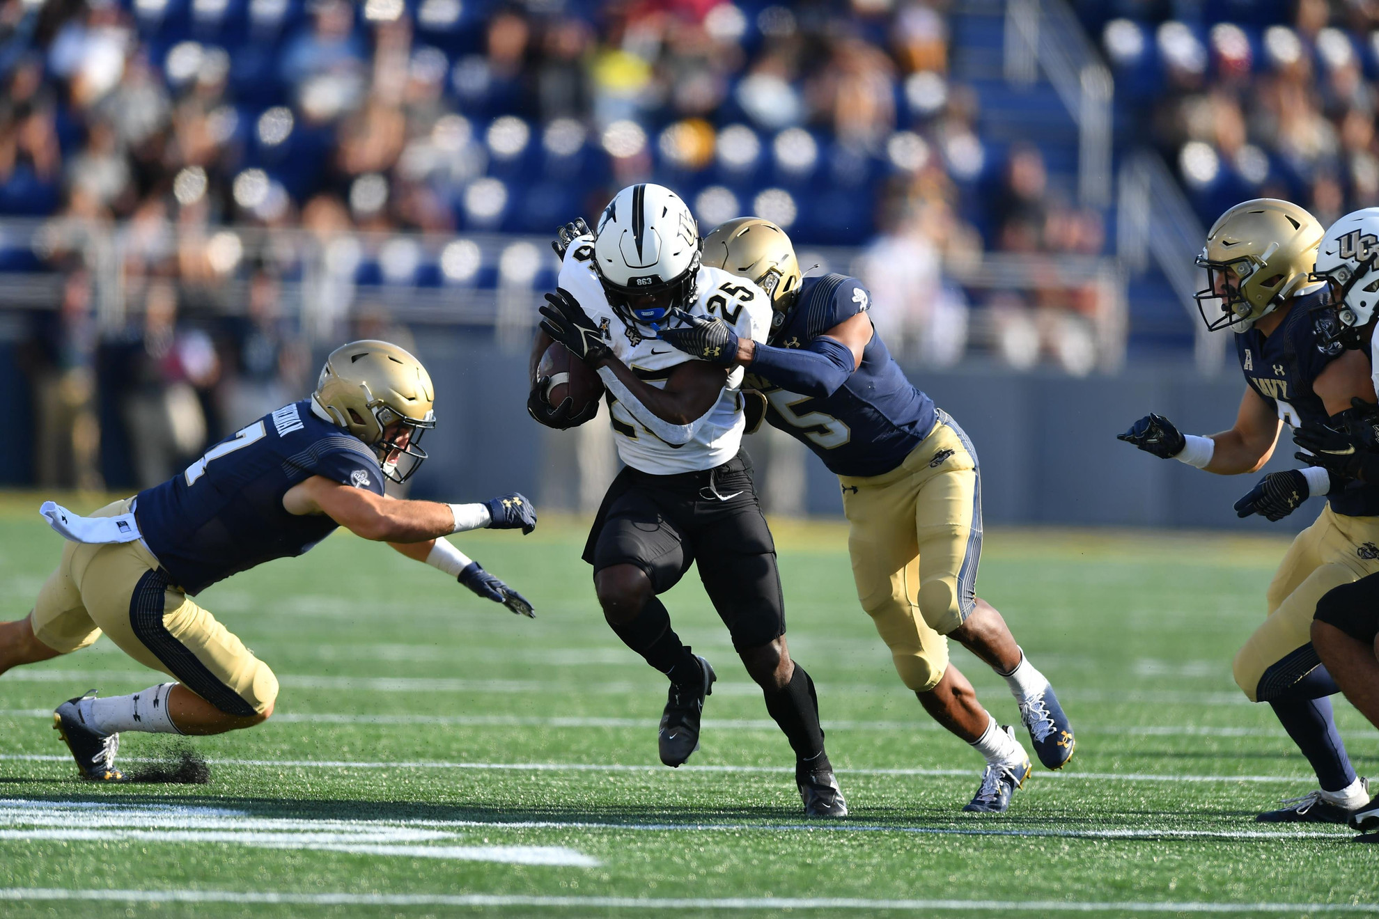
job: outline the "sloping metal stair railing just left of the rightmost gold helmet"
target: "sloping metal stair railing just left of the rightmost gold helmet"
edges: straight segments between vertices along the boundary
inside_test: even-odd
[[[1193,212],[1164,160],[1153,150],[1136,150],[1120,169],[1116,214],[1117,255],[1132,274],[1149,267],[1153,258],[1168,278],[1194,329],[1193,357],[1198,372],[1215,375],[1225,362],[1229,335],[1207,329],[1193,295],[1201,276],[1194,259],[1207,230]]]

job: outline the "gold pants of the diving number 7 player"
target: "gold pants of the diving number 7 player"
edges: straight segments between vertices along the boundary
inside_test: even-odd
[[[91,517],[128,513],[114,502]],[[101,632],[145,667],[161,670],[230,715],[262,715],[277,677],[210,612],[170,583],[142,541],[68,541],[33,605],[33,634],[55,652],[85,648]]]

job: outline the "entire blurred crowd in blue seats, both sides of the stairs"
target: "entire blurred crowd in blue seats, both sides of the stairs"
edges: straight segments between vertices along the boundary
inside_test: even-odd
[[[983,118],[1004,84],[968,79],[1001,66],[960,47],[969,6],[0,0],[0,273],[61,278],[59,309],[22,313],[37,478],[98,486],[112,452],[114,478],[163,478],[303,391],[321,342],[405,344],[419,309],[520,339],[554,280],[542,238],[633,180],[860,274],[907,362],[1091,371],[1124,321],[1040,266],[1111,252],[1114,208]],[[1073,6],[1118,146],[1164,152],[1204,222],[1379,196],[1379,7]],[[968,282],[993,254],[1033,280]]]

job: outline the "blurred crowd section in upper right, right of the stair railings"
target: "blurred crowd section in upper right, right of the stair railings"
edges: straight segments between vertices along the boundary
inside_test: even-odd
[[[1204,223],[1280,197],[1322,225],[1379,204],[1379,4],[1087,0],[1128,125]]]

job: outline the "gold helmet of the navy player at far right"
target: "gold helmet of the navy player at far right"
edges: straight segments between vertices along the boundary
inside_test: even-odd
[[[1317,218],[1278,198],[1255,198],[1222,214],[1197,256],[1207,287],[1194,299],[1207,328],[1244,332],[1273,313],[1307,284],[1322,233]],[[1215,318],[1209,300],[1219,300]]]

